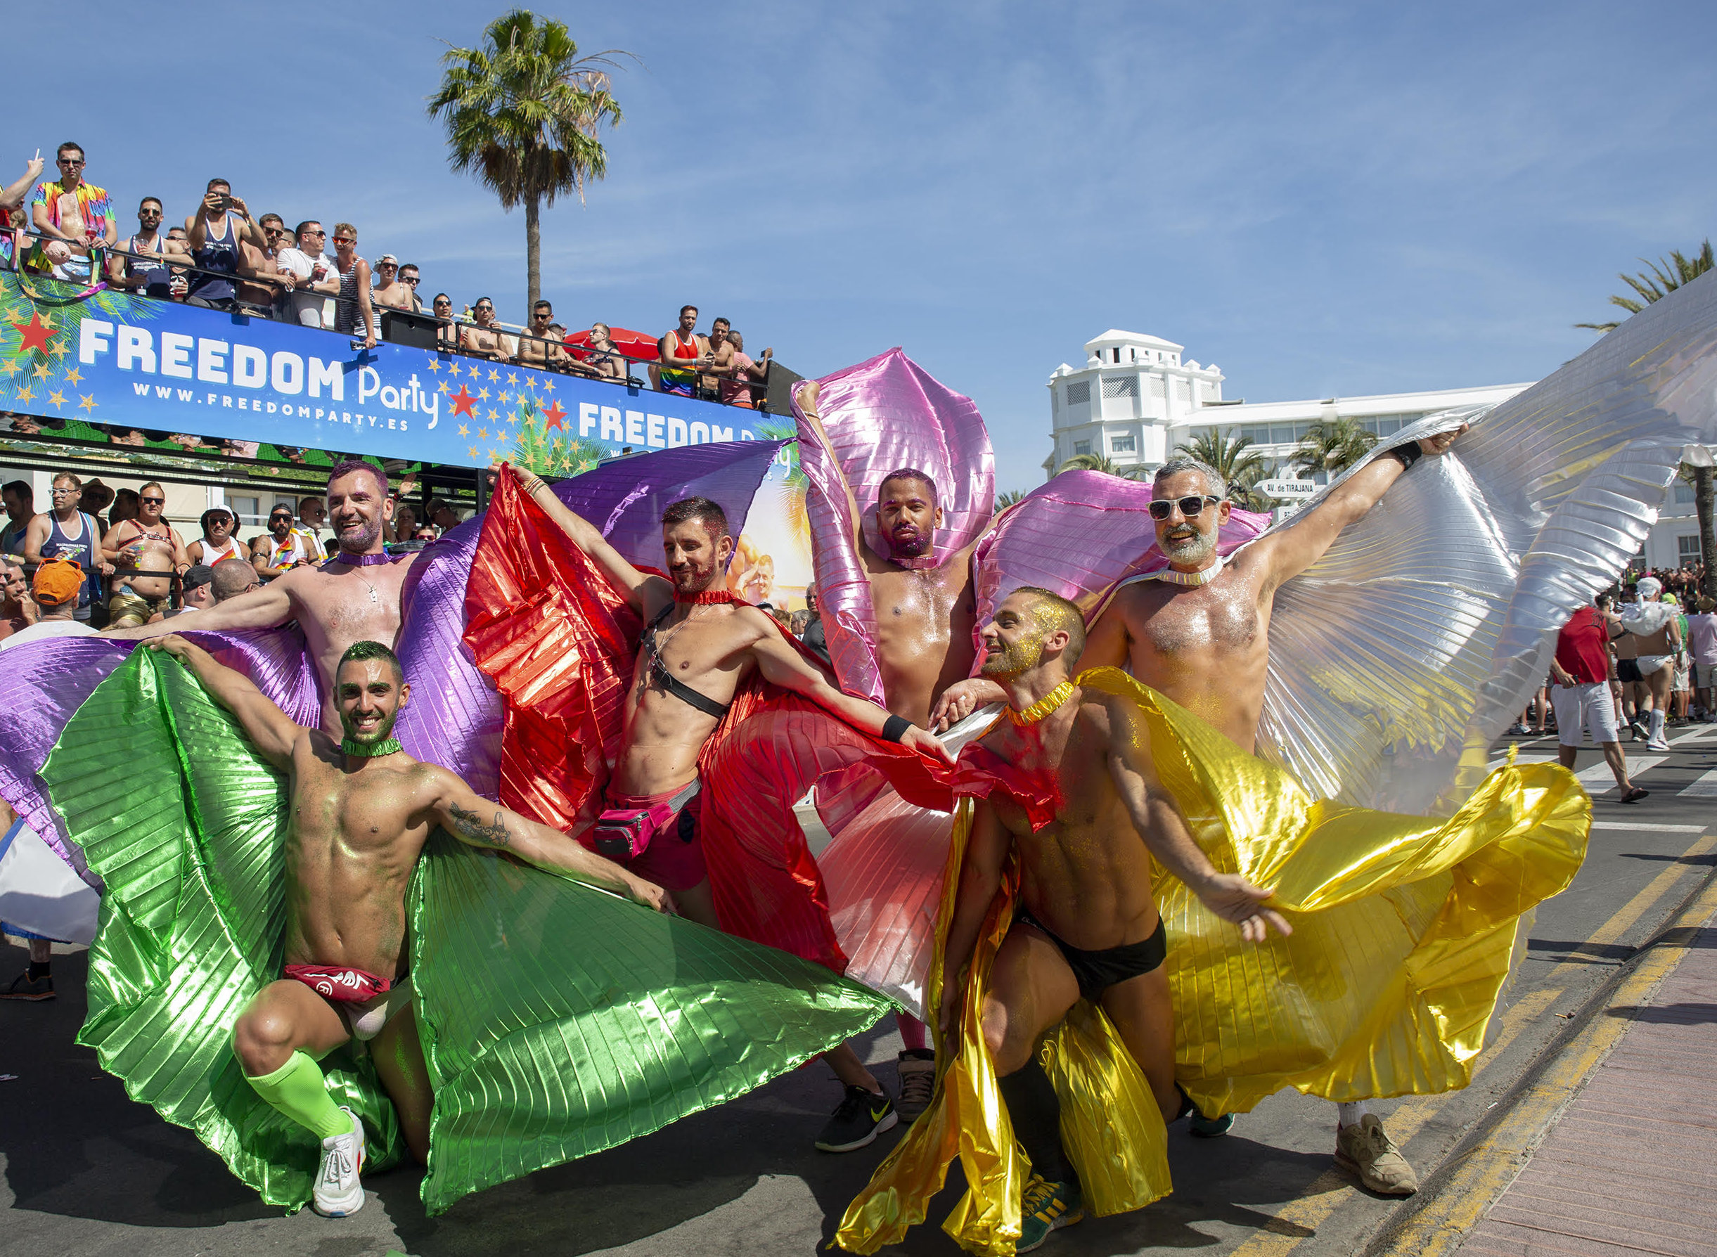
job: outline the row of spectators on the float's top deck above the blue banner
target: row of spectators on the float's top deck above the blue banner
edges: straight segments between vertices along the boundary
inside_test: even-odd
[[[137,228],[120,237],[120,213],[108,191],[84,177],[84,161],[82,146],[67,141],[55,151],[53,179],[41,179],[38,153],[24,177],[0,189],[0,268],[15,266],[67,283],[100,280],[160,301],[331,330],[366,347],[388,335],[385,316],[398,313],[422,328],[414,335],[428,337],[433,328],[434,343],[453,354],[642,385],[630,374],[637,364],[649,386],[661,392],[740,407],[762,400],[774,350],[747,355],[743,337],[725,318],[714,319],[707,333],[697,331],[695,306],[682,307],[676,326],[654,345],[635,333],[616,343],[606,323],[568,335],[548,301],[532,306],[522,328],[500,323],[489,297],[458,306],[441,292],[426,313],[416,263],[385,252],[371,266],[357,252],[357,228],[349,222],[333,223],[330,235],[318,218],[288,227],[278,213],[256,216],[234,194],[232,182],[220,177],[208,180],[203,199],[180,222],[168,222],[161,197],[144,196],[137,203]],[[17,431],[64,426],[64,421],[17,419],[22,421],[14,422]],[[110,433],[110,440],[130,445],[146,436],[201,446],[189,434]],[[249,450],[244,445],[220,441],[208,448],[254,457],[254,443]]]

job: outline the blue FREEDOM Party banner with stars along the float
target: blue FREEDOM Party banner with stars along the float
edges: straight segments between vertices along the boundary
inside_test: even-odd
[[[33,280],[43,295],[62,285]],[[745,407],[103,290],[36,302],[0,273],[0,409],[464,467],[792,436]]]

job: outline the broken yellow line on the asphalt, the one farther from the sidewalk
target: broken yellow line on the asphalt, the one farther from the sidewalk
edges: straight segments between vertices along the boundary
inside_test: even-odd
[[[1717,835],[1702,836],[1674,862],[1665,865],[1650,883],[1647,883],[1638,895],[1623,903],[1609,920],[1592,931],[1592,936],[1583,946],[1597,948],[1616,943],[1616,939],[1633,929],[1640,917],[1650,912],[1652,907],[1655,907],[1678,881],[1695,871],[1693,862],[1696,859],[1714,850],[1717,850]],[[1540,986],[1514,1001],[1514,1005],[1502,1015],[1502,1020],[1497,1025],[1496,1039],[1485,1046],[1483,1054],[1478,1058],[1478,1065],[1473,1070],[1473,1082],[1477,1082],[1480,1075],[1483,1075],[1483,1072],[1508,1049],[1508,1046],[1520,1037],[1521,1030],[1532,1025],[1540,1015],[1549,1011],[1550,1005],[1562,998],[1566,981],[1571,979],[1576,970],[1585,970],[1588,965],[1588,960],[1562,960],[1556,965],[1556,969],[1545,974]],[[1389,1137],[1398,1145],[1405,1145],[1427,1121],[1437,1114],[1446,1101],[1446,1094],[1403,1101],[1396,1106],[1396,1111],[1389,1114]],[[1353,1185],[1353,1176],[1331,1166],[1312,1180],[1300,1197],[1277,1209],[1271,1221],[1248,1236],[1245,1243],[1235,1248],[1231,1257],[1277,1257],[1279,1254],[1291,1252],[1301,1240],[1312,1238],[1317,1233],[1317,1228],[1355,1195],[1358,1195],[1358,1188]]]

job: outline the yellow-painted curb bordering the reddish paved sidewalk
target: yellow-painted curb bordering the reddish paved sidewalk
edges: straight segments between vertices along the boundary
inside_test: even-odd
[[[1532,1068],[1444,1157],[1415,1200],[1372,1236],[1365,1257],[1454,1254],[1633,1023],[1604,1013],[1647,1005],[1681,963],[1693,932],[1714,914],[1717,869],[1587,998]]]

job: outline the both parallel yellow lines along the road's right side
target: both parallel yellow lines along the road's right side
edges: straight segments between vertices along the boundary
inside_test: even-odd
[[[1574,948],[1568,960],[1552,969],[1544,984],[1523,994],[1502,1015],[1497,1035],[1485,1048],[1473,1070],[1473,1082],[1483,1077],[1497,1058],[1520,1037],[1520,1034],[1542,1017],[1568,993],[1569,981],[1581,972],[1588,972],[1590,958],[1583,951],[1617,943],[1640,917],[1650,912],[1676,883],[1696,869],[1696,860],[1717,850],[1717,835],[1705,835],[1684,850],[1674,862],[1664,867],[1650,884],[1628,900],[1609,920],[1592,936]],[[1702,907],[1708,902],[1708,907]],[[1703,917],[1695,914],[1703,910]],[[1703,895],[1683,914],[1690,920],[1703,920],[1717,910],[1717,884],[1708,886]],[[1612,1003],[1640,1003],[1641,994],[1648,994],[1674,969],[1683,948],[1660,946],[1652,951],[1628,979],[1617,987]],[[1641,979],[1643,986],[1641,986]],[[1544,1128],[1556,1118],[1562,1104],[1585,1082],[1587,1075],[1609,1054],[1611,1048],[1628,1029],[1626,1018],[1593,1017],[1590,1025],[1561,1054],[1556,1065],[1533,1085],[1509,1116],[1477,1147],[1470,1149],[1454,1175],[1444,1181],[1435,1199],[1422,1205],[1408,1223],[1396,1233],[1396,1250],[1413,1252],[1418,1257],[1435,1257],[1454,1252],[1466,1231],[1478,1221],[1490,1202],[1501,1195],[1502,1188],[1513,1181],[1525,1164],[1525,1154]],[[1398,1145],[1406,1145],[1418,1130],[1430,1121],[1444,1106],[1446,1096],[1423,1096],[1403,1101],[1389,1116],[1389,1137]],[[1329,1219],[1341,1205],[1358,1195],[1351,1176],[1331,1166],[1307,1187],[1305,1193],[1276,1211],[1259,1231],[1233,1250],[1231,1257],[1276,1257],[1296,1248],[1305,1240],[1315,1236],[1317,1228]]]

